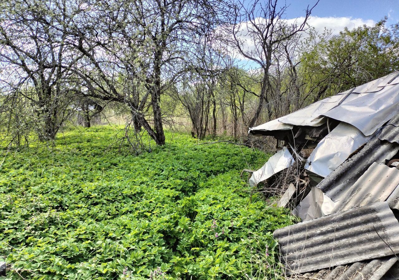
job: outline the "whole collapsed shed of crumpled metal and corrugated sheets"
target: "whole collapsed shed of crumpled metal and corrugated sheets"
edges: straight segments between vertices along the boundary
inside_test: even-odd
[[[399,279],[399,72],[249,133],[284,143],[252,186],[300,166],[278,205],[302,222],[273,233],[287,275]]]

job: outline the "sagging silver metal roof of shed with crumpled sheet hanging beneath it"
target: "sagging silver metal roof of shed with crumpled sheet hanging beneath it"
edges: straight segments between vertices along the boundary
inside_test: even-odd
[[[249,133],[271,135],[294,145],[316,146],[305,169],[326,177],[399,112],[399,72],[325,98],[274,119]],[[397,128],[399,121],[388,124]],[[391,129],[385,138],[399,144]],[[389,133],[390,132],[390,133]]]

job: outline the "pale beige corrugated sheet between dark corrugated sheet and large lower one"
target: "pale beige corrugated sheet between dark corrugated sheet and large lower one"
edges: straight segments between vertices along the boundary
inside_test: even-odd
[[[383,202],[399,185],[399,170],[385,164],[373,163],[342,195],[332,213]]]

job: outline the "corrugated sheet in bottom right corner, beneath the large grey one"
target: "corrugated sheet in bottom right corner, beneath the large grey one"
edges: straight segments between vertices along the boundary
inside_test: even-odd
[[[395,256],[376,258],[371,261],[340,265],[332,269],[322,269],[318,272],[308,272],[302,277],[328,280],[379,280],[387,274],[396,262]]]

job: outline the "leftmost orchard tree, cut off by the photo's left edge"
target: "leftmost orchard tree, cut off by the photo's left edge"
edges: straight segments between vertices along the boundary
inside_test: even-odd
[[[69,77],[76,58],[66,43],[68,19],[62,14],[67,9],[64,0],[0,4],[2,111],[24,118],[17,123],[29,122],[42,141],[54,139],[73,95]]]

